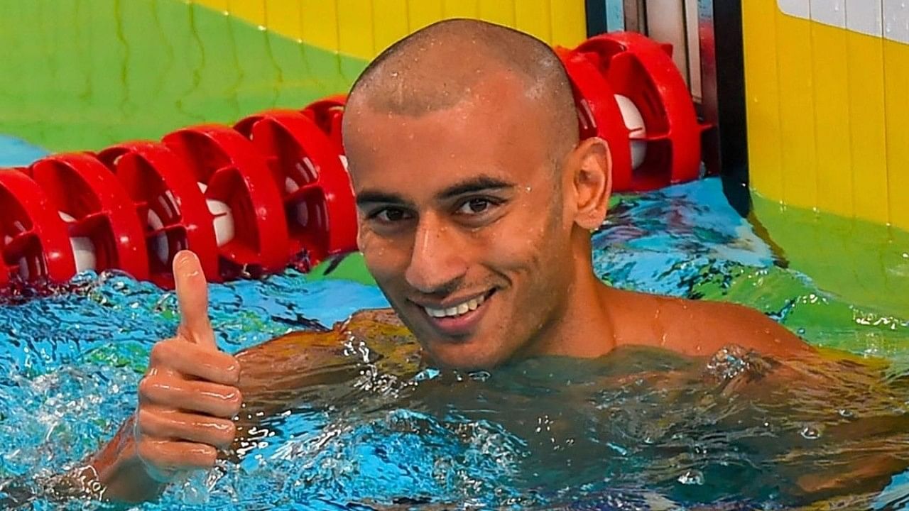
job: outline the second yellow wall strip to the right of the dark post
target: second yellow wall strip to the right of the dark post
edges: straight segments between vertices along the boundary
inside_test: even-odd
[[[814,85],[811,76],[811,22],[777,12],[780,147],[783,201],[812,208],[817,199],[814,144]]]

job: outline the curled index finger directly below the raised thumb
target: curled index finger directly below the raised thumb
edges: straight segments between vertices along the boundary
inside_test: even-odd
[[[187,343],[167,339],[152,347],[152,367],[167,367],[184,376],[213,383],[235,386],[240,381],[240,363],[234,356]]]

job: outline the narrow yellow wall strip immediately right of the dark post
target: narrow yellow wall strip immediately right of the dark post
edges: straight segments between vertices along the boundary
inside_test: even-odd
[[[749,178],[755,190],[781,201],[783,174],[775,15],[773,2],[742,4]]]

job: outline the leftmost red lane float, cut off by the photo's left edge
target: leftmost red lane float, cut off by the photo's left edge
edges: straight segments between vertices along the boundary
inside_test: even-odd
[[[66,225],[50,199],[31,177],[0,169],[0,282],[63,282],[75,275],[75,259]]]

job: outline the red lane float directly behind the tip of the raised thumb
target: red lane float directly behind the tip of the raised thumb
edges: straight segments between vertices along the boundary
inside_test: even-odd
[[[152,282],[174,286],[171,262],[185,248],[198,255],[209,281],[220,282],[215,218],[184,161],[155,142],[115,145],[97,157],[119,178],[145,223]]]

